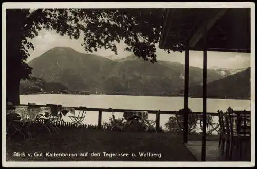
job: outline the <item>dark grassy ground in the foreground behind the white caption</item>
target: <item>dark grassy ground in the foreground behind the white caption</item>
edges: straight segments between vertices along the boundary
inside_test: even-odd
[[[211,136],[210,139],[216,138],[217,136]],[[201,135],[189,135],[190,139],[201,140]],[[26,156],[13,157],[13,152],[24,152]],[[35,152],[42,153],[43,157],[34,157]],[[47,152],[77,153],[77,157],[46,157]],[[80,153],[86,152],[86,157],[80,156]],[[100,153],[100,156],[90,156],[93,152]],[[128,153],[129,157],[109,158],[103,152]],[[161,154],[161,158],[140,157],[139,152]],[[182,143],[182,135],[170,132],[111,132],[83,128],[65,128],[60,131],[60,135],[41,133],[22,144],[7,144],[6,153],[7,161],[196,161]],[[28,153],[32,156],[28,157]],[[135,153],[136,157],[132,157],[131,153]]]

